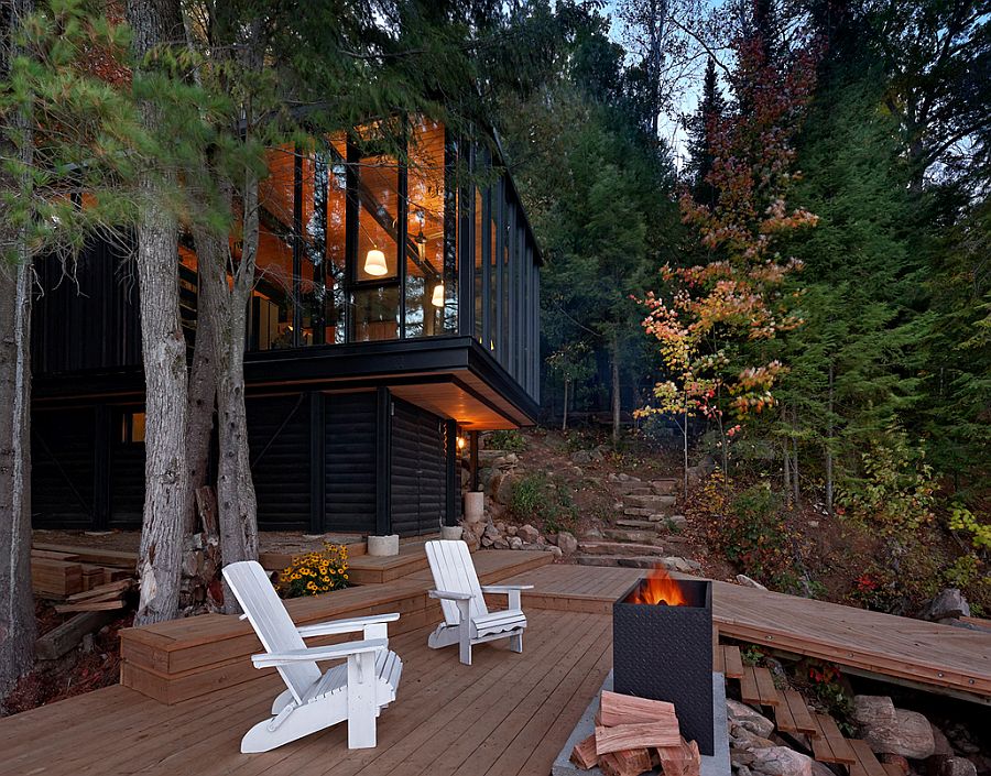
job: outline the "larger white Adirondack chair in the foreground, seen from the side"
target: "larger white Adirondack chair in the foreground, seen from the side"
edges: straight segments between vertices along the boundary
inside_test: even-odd
[[[286,689],[272,703],[271,719],[241,739],[241,752],[268,752],[333,724],[348,721],[348,748],[375,745],[375,718],[395,700],[403,662],[388,648],[388,623],[399,614],[379,614],[296,627],[264,569],[253,560],[224,567],[224,578],[254,627],[265,653],[252,655],[255,668],[279,669]],[[362,632],[363,641],[307,647],[311,636]],[[317,660],[347,658],[326,673]]]

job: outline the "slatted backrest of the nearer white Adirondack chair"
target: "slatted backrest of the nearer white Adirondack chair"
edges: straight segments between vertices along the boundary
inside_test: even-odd
[[[303,636],[260,564],[254,560],[230,564],[224,567],[224,578],[248,615],[248,622],[265,652],[274,654],[306,648]],[[301,702],[309,686],[320,678],[320,669],[315,662],[279,666],[277,669],[286,687]]]

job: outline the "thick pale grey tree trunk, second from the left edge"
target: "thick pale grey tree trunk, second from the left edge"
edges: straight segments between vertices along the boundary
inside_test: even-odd
[[[128,22],[139,63],[156,46],[183,40],[177,0],[128,0]],[[140,65],[139,65],[140,68]],[[154,135],[160,108],[142,105]],[[175,179],[167,160],[157,175],[138,179],[142,207],[138,226],[138,289],[144,359],[144,521],[138,550],[141,598],[134,623],[178,615],[182,533],[186,506],[186,341],[178,307],[178,222],[163,188]]]

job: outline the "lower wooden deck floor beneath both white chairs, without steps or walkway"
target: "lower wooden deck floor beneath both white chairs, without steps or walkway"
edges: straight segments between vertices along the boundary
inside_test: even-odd
[[[535,612],[522,655],[481,645],[475,665],[428,649],[428,629],[391,640],[404,660],[379,745],[349,752],[344,725],[266,754],[241,735],[283,688],[263,676],[173,706],[112,687],[0,721],[0,775],[547,776],[612,665],[610,617]]]

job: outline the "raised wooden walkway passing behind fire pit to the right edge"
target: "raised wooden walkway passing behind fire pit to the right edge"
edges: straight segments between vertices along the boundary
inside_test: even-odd
[[[523,606],[608,614],[640,569],[547,566],[508,583],[533,584]],[[677,575],[676,575],[677,576]],[[991,633],[714,582],[722,636],[991,701]]]

